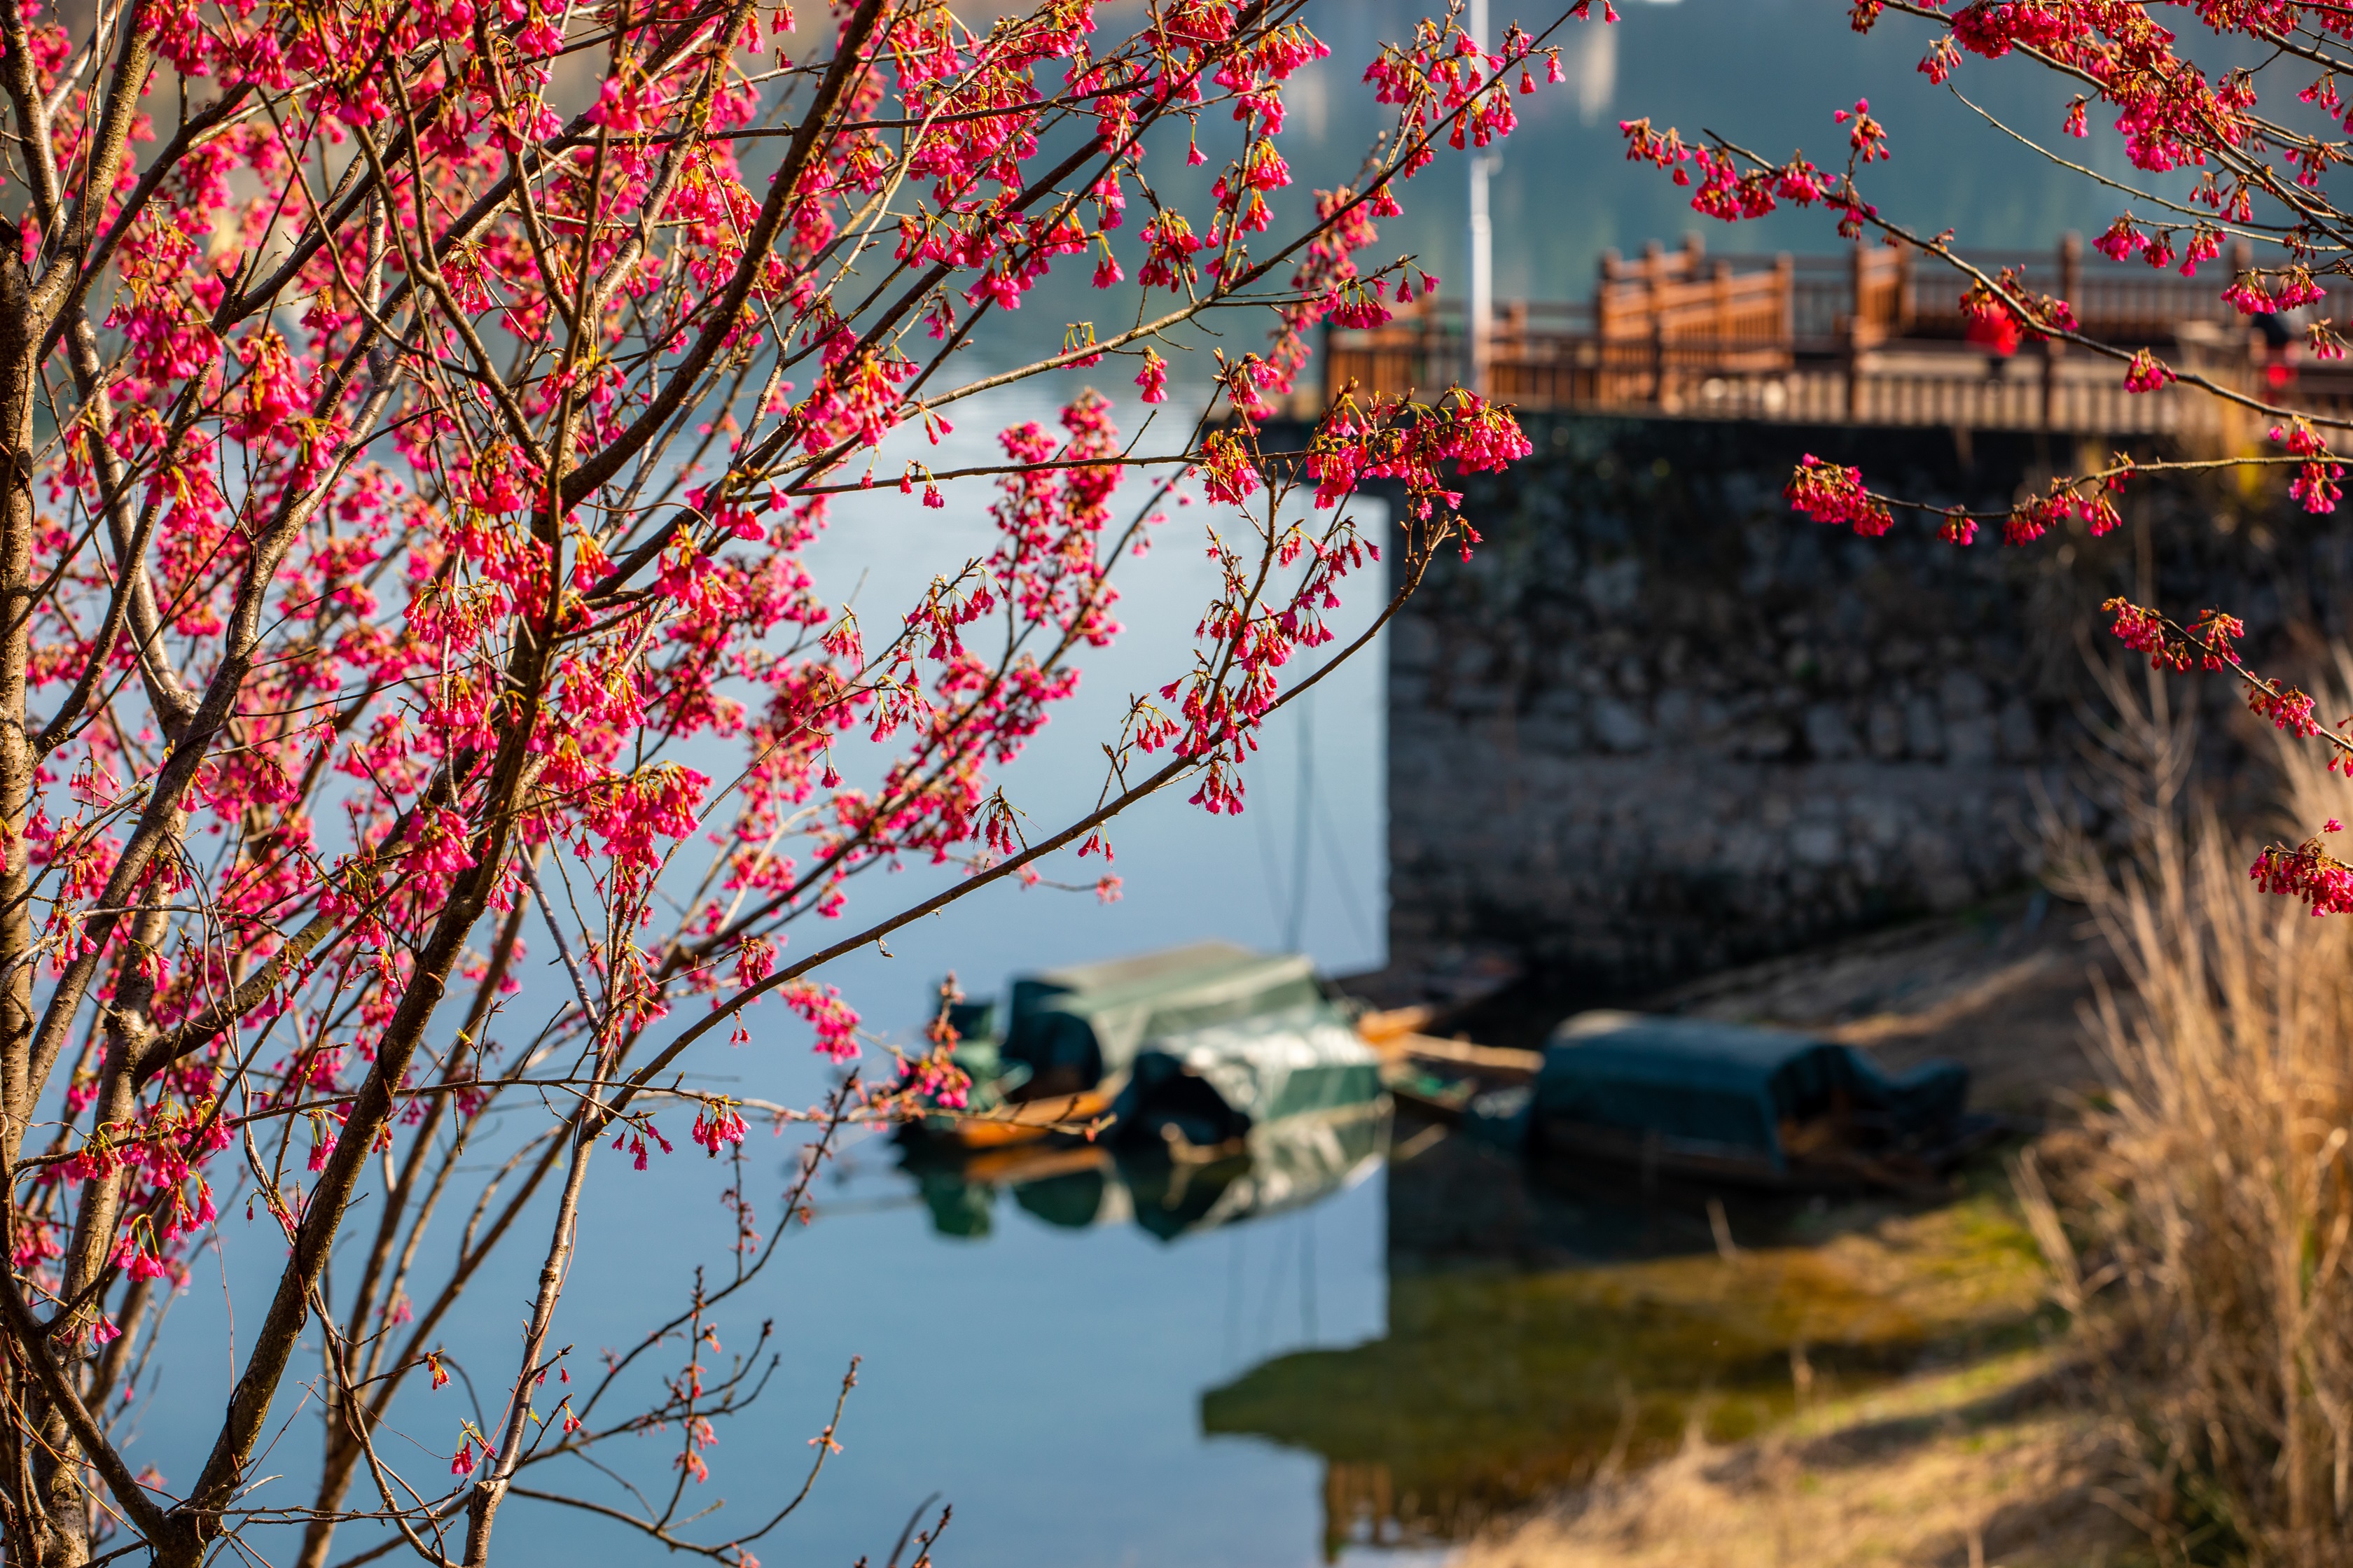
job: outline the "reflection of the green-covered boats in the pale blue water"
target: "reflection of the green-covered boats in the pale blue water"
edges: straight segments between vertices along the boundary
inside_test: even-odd
[[[960,1152],[908,1143],[901,1168],[915,1178],[932,1227],[944,1237],[986,1237],[1000,1192],[1047,1225],[1139,1227],[1176,1237],[1240,1225],[1318,1204],[1372,1175],[1388,1152],[1388,1105],[1348,1105],[1252,1126],[1235,1145],[1188,1154],[1184,1143],[1019,1145]]]

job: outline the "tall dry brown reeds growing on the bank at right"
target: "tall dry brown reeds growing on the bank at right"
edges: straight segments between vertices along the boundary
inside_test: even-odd
[[[2353,712],[2346,656],[2337,684]],[[2052,879],[2120,976],[2087,1020],[2108,1084],[2019,1194],[2115,1418],[2113,1505],[2167,1561],[2353,1563],[2353,917],[2247,877],[2261,837],[2353,818],[2353,785],[2273,736],[2280,820],[2235,832],[2186,790],[2165,684],[2104,686],[2118,832],[2057,832]]]

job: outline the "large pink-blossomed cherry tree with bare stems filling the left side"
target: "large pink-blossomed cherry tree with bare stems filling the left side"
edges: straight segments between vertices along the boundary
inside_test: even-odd
[[[1266,421],[1318,322],[1435,287],[1367,256],[1377,223],[1558,80],[1546,35],[1449,12],[1381,47],[1386,132],[1308,197],[1278,150],[1285,80],[1327,54],[1308,7],[1120,9],[0,7],[7,1561],[193,1566],[278,1528],[311,1568],[365,1519],[351,1561],[485,1563],[534,1495],[755,1563],[798,1497],[680,1502],[762,1385],[720,1319],[842,1126],[962,1088],[953,1037],[882,1048],[828,964],[1054,853],[1115,893],[1106,827],[1158,790],[1240,811],[1266,717],[1369,639],[1334,639],[1341,588],[1386,548],[1393,611],[1475,541],[1454,475],[1527,451],[1464,393],[1344,397],[1304,451]],[[1056,353],[960,374],[1089,294]],[[1172,374],[1217,418],[1176,416]],[[1024,378],[1066,388],[1059,425],[922,461]],[[1365,480],[1407,498],[1386,538],[1348,510]],[[915,602],[861,623],[816,581],[828,498],[958,487],[993,548]],[[1221,581],[1193,658],[1101,736],[1094,809],[1033,823],[1002,773],[1188,489]],[[944,891],[894,898],[892,865]],[[541,936],[553,1004],[518,985]],[[682,1088],[762,999],[849,1065],[828,1103]],[[480,1175],[492,1112],[527,1131]],[[767,1213],[748,1119],[814,1124]],[[729,1161],[734,1253],[659,1260],[675,1309],[574,1366],[591,1161],[678,1143]],[[176,1410],[216,1422],[209,1458],[167,1479],[120,1413],[162,1359],[219,1356],[162,1326],[198,1248],[275,1284],[226,1403]],[[536,1284],[461,1422],[442,1335],[501,1248]],[[256,1476],[304,1401],[318,1472]],[[536,1481],[624,1441],[673,1481]]]

